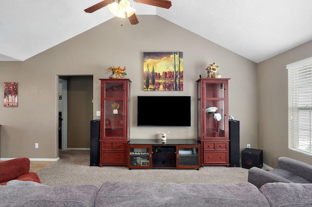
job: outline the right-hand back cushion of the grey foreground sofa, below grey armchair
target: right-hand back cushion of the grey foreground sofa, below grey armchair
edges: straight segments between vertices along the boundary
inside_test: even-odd
[[[260,192],[271,206],[312,207],[312,184],[267,183]]]

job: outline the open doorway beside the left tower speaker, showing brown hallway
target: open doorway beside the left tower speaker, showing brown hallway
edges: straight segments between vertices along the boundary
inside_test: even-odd
[[[93,76],[59,76],[59,150],[90,150]]]

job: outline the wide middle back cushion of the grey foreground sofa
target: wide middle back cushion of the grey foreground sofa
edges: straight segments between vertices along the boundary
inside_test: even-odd
[[[103,183],[96,207],[171,207],[171,206],[270,206],[265,196],[250,183]]]

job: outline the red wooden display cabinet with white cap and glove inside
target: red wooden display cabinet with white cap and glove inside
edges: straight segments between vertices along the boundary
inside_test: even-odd
[[[230,165],[228,81],[227,78],[201,78],[196,81],[201,166]]]

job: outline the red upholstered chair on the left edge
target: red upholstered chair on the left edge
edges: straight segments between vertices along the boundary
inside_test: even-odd
[[[10,180],[34,181],[41,183],[37,173],[29,172],[30,160],[26,157],[0,162],[0,185]]]

